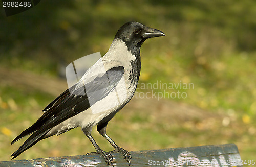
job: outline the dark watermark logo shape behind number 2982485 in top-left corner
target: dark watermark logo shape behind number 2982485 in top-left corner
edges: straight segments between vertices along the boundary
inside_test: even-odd
[[[30,8],[33,8],[39,2],[40,0],[2,0],[2,5],[5,9],[5,14],[8,17],[14,14],[24,12]]]

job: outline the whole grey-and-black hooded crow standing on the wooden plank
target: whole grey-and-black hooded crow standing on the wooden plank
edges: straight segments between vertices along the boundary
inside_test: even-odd
[[[91,135],[92,127],[120,152],[130,165],[131,154],[120,148],[106,134],[106,126],[113,116],[133,97],[140,76],[140,47],[152,37],[165,34],[139,22],[127,22],[116,33],[109,51],[101,57],[82,78],[64,91],[43,111],[44,114],[28,129],[18,135],[11,144],[30,135],[11,156],[16,158],[38,141],[52,135],[81,127],[107,165],[113,166],[111,152],[100,149]]]

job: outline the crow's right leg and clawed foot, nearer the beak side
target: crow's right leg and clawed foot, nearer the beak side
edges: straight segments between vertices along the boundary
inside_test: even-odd
[[[131,160],[130,160],[130,159],[132,158],[131,154],[130,154],[127,150],[124,150],[123,148],[117,146],[117,144],[115,144],[115,142],[106,134],[106,125],[107,125],[107,124],[108,124],[108,123],[105,123],[105,124],[98,124],[97,130],[99,131],[99,133],[100,133],[103,137],[105,137],[105,139],[107,139],[107,140],[110,142],[110,144],[111,144],[111,145],[114,147],[114,149],[115,149],[115,150],[110,151],[110,152],[108,152],[108,153],[115,153],[115,152],[120,152],[120,153],[122,153],[124,159],[129,163],[129,166],[130,166],[130,164],[131,164]]]

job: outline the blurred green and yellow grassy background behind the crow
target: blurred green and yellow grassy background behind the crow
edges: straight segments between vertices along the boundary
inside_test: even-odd
[[[166,36],[141,48],[140,85],[193,83],[192,89],[139,89],[186,98],[134,98],[109,123],[108,134],[129,150],[235,143],[256,159],[256,2],[41,1],[0,17],[0,161],[22,144],[11,141],[67,88],[61,69],[95,52],[104,55],[116,31],[139,21]],[[143,83],[143,84],[142,84]],[[93,136],[112,150],[96,129]],[[40,141],[17,159],[94,151],[79,128]],[[246,165],[245,165],[246,166]]]

